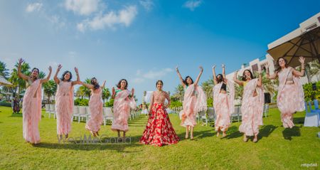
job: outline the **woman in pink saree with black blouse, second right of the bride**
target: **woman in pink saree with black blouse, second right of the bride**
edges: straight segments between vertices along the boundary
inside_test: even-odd
[[[213,87],[213,107],[215,108],[215,113],[217,115],[217,119],[215,120],[217,137],[219,137],[220,131],[223,132],[223,137],[227,135],[225,132],[230,126],[230,115],[235,110],[233,104],[233,100],[235,99],[235,86],[233,85],[233,82],[225,78],[225,65],[222,65],[222,68],[222,75],[215,75],[215,65],[212,68],[213,81],[215,83],[215,86]]]

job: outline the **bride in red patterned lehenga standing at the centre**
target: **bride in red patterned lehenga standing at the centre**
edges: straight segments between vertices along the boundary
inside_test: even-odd
[[[178,136],[174,132],[174,127],[166,112],[166,108],[170,105],[170,97],[168,93],[162,91],[164,83],[161,80],[156,82],[157,91],[151,95],[149,119],[146,124],[146,129],[142,135],[140,142],[142,144],[151,144],[163,146],[166,144],[178,143]],[[165,105],[165,100],[168,100],[168,105]]]

